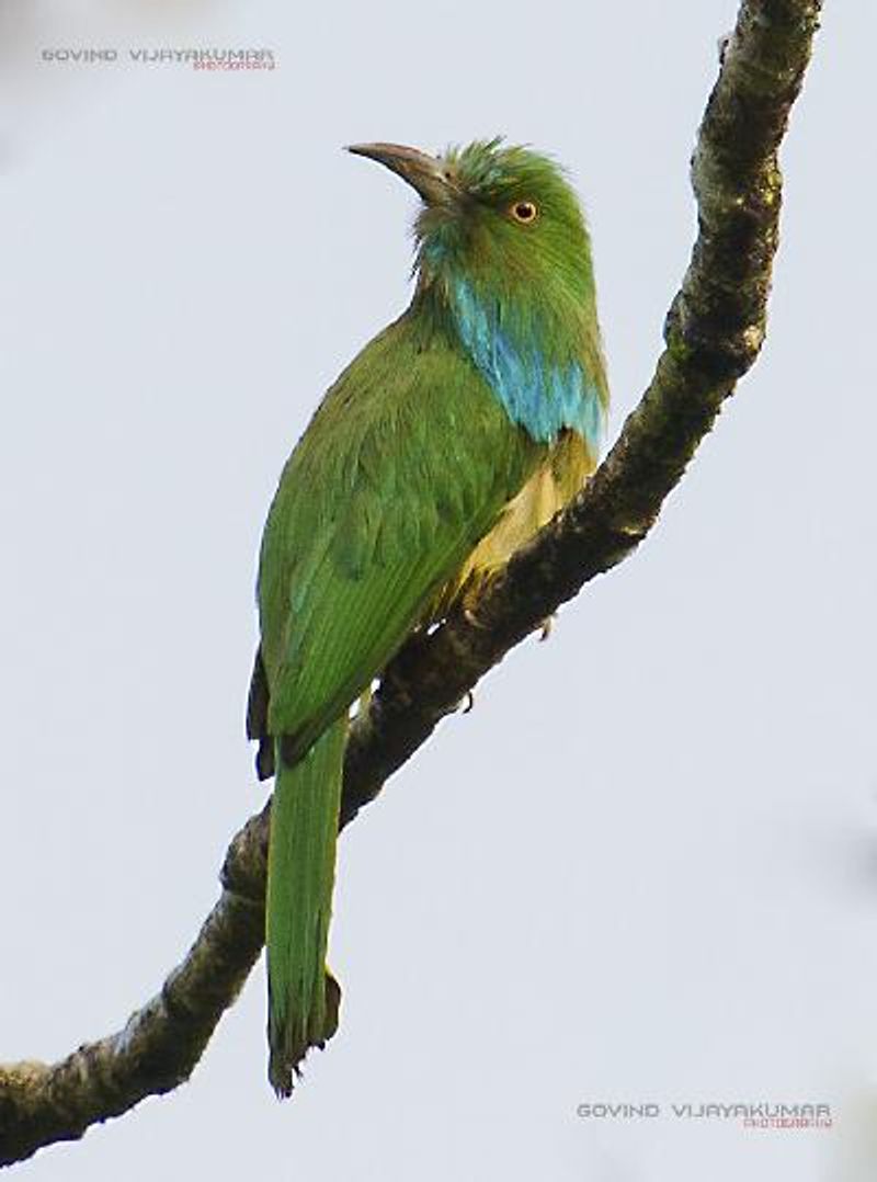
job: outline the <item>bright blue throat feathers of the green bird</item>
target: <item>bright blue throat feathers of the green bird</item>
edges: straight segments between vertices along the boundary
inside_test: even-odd
[[[597,455],[603,407],[580,363],[546,357],[532,326],[527,335],[501,325],[499,304],[480,299],[465,279],[456,278],[449,286],[463,348],[512,422],[539,443],[551,443],[564,428],[571,428]]]

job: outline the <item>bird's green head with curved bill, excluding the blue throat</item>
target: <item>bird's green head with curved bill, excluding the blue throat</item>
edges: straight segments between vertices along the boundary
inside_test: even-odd
[[[528,290],[553,301],[593,300],[590,242],[576,193],[547,156],[476,141],[429,156],[399,144],[355,144],[417,190],[421,284],[466,277],[501,301]]]

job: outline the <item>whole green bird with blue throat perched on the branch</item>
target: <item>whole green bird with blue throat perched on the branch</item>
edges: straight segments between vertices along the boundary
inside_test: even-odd
[[[350,708],[414,629],[472,609],[583,486],[609,394],[591,248],[548,157],[491,139],[435,157],[350,148],[416,189],[416,285],[325,395],[261,546],[247,732],[274,774],[268,1078],[337,1028],[326,967]]]

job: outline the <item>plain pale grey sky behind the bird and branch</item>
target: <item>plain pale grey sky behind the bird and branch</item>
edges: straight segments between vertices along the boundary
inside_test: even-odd
[[[688,258],[735,7],[0,5],[0,1057],[118,1028],[264,799],[264,517],[409,293],[411,195],[339,147],[506,132],[570,167],[615,434]],[[22,1178],[873,1178],[877,8],[826,7],[765,355],[639,554],[345,834],[338,1037],[279,1105],[260,966],[186,1087]],[[278,69],[124,60],[162,45]],[[121,60],[40,60],[77,46]],[[834,1128],[576,1115],[736,1099],[830,1103]]]

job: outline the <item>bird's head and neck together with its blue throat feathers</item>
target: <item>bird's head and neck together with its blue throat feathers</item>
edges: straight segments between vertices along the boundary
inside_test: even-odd
[[[442,156],[385,143],[350,150],[385,164],[423,201],[418,323],[453,332],[534,439],[574,428],[596,456],[609,391],[587,229],[560,168],[500,139]]]

